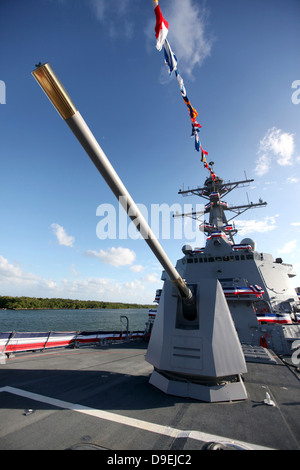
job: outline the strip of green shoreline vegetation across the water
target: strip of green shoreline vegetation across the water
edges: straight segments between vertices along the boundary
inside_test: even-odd
[[[151,308],[153,305],[129,304],[121,302],[104,302],[98,300],[74,300],[41,297],[10,297],[0,296],[2,310],[58,310],[58,309],[87,309],[87,308]]]

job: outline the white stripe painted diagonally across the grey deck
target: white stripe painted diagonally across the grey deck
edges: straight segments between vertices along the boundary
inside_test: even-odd
[[[163,434],[164,436],[178,438],[189,438],[195,439],[197,441],[203,442],[218,442],[221,444],[231,444],[240,446],[243,449],[249,450],[271,450],[268,447],[259,446],[256,444],[250,444],[244,441],[232,440],[226,437],[217,436],[214,434],[208,434],[201,431],[183,431],[181,429],[172,428],[169,426],[162,426],[160,424],[150,423],[149,421],[143,421],[140,419],[130,418],[128,416],[123,416],[117,413],[111,413],[109,411],[97,410],[95,408],[90,408],[88,406],[79,405],[76,403],[70,403],[63,400],[58,400],[56,398],[46,397],[45,395],[39,395],[37,393],[28,392],[26,390],[21,390],[15,387],[2,387],[0,388],[1,392],[12,393],[21,397],[29,398],[31,400],[39,401],[41,403],[47,403],[48,405],[56,406],[58,408],[64,408],[72,411],[77,411],[78,413],[83,413],[88,416],[93,416],[95,418],[105,419],[118,424],[123,424],[125,426],[132,426],[134,428],[142,429],[144,431],[154,432],[157,434]]]

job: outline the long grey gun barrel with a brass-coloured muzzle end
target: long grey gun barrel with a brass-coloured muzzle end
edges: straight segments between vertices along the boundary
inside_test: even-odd
[[[166,273],[169,275],[170,280],[177,287],[182,299],[190,302],[193,297],[190,289],[172,265],[145,218],[128,193],[102,148],[96,141],[81,114],[76,109],[59,78],[56,76],[51,65],[49,63],[43,64],[36,68],[32,72],[32,75],[46,93],[61,117],[68,124],[75,137],[78,139],[116,198],[119,200],[119,203],[126,210],[128,216],[133,221],[134,225],[139,230]]]

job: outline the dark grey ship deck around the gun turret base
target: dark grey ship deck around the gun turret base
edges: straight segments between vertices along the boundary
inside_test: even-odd
[[[146,348],[132,342],[7,359],[0,365],[0,449],[189,452],[209,442],[300,449],[295,367],[248,351],[248,399],[204,403],[150,385]],[[264,403],[267,392],[275,406]]]

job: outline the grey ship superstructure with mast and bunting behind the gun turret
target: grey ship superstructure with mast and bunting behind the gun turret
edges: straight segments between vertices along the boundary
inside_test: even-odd
[[[204,277],[219,280],[241,342],[288,354],[300,329],[300,303],[291,283],[296,275],[293,266],[258,251],[251,238],[239,244],[234,240],[238,230],[232,220],[267,203],[259,199],[234,206],[224,201],[233,189],[252,181],[224,182],[209,177],[202,187],[179,190],[183,196],[196,195],[208,201],[203,212],[174,215],[200,221],[199,228],[207,238],[203,248],[184,245],[184,257],[177,261],[176,269],[188,284]]]

